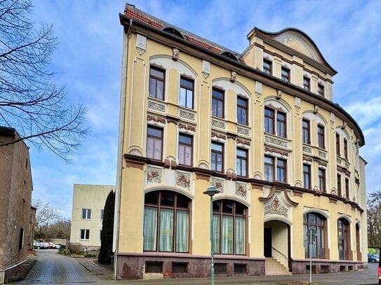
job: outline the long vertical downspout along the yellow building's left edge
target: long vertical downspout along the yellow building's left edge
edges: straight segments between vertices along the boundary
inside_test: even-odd
[[[118,276],[118,249],[119,249],[119,223],[121,213],[121,183],[122,183],[122,169],[123,169],[123,144],[124,144],[124,125],[126,121],[126,85],[127,85],[127,68],[128,68],[128,35],[131,32],[133,20],[130,19],[130,26],[126,36],[123,34],[123,53],[121,64],[121,97],[119,109],[119,138],[118,138],[118,158],[116,165],[116,186],[115,186],[115,211],[114,211],[114,237],[112,240],[112,251],[114,252],[114,279]],[[124,33],[124,29],[123,29]]]

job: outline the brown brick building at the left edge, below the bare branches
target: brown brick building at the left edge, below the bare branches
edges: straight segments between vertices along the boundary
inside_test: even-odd
[[[0,127],[0,142],[19,139],[9,127]],[[20,265],[33,248],[34,221],[29,148],[24,141],[0,147],[0,284],[6,271]],[[32,242],[32,244],[31,244]]]

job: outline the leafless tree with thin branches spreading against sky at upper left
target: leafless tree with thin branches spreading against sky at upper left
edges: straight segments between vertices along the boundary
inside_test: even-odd
[[[48,67],[58,42],[52,26],[35,27],[31,12],[30,0],[0,0],[0,125],[20,134],[8,144],[27,140],[69,161],[88,133],[86,109],[53,83]]]

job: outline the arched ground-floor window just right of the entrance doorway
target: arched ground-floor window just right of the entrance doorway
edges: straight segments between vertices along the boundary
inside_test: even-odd
[[[319,213],[307,213],[303,216],[303,228],[305,258],[326,258],[326,218]],[[312,244],[310,244],[311,230]]]

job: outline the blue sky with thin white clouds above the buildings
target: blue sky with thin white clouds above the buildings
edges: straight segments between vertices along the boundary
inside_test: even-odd
[[[48,151],[30,149],[34,199],[71,217],[74,183],[114,185],[126,1],[34,1],[32,20],[53,25],[58,50],[51,70],[74,103],[87,109],[91,128],[67,164]],[[295,27],[318,46],[337,75],[333,102],[359,123],[368,192],[381,188],[381,1],[167,1],[131,2],[156,18],[241,53],[253,27],[278,32]]]

